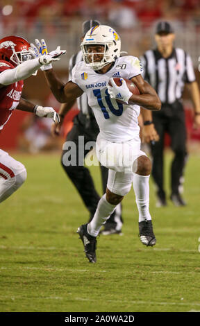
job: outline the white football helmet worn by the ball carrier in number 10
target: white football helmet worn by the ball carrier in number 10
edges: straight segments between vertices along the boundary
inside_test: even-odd
[[[90,45],[103,45],[104,51],[102,53],[88,53],[88,46]],[[85,64],[93,70],[99,70],[108,65],[108,63],[119,58],[121,40],[112,27],[97,25],[90,28],[90,31],[85,34],[83,42],[81,43],[81,50],[83,52],[83,60],[85,61]],[[102,60],[95,62],[94,54],[103,55]]]

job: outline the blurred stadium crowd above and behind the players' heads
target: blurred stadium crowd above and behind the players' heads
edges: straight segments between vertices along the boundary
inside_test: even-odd
[[[200,0],[1,0],[0,35],[23,35],[27,40],[48,40],[70,56],[79,51],[82,23],[97,19],[113,26],[122,39],[122,49],[140,56],[153,44],[154,26],[170,21],[176,31],[176,46],[190,52],[194,67],[199,57]],[[134,35],[134,42],[133,42]],[[66,37],[67,36],[67,37]]]

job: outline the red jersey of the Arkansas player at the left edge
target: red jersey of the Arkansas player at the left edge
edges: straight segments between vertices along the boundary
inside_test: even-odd
[[[4,70],[13,68],[15,67],[10,62],[0,60],[0,74]],[[17,108],[22,95],[23,86],[24,81],[19,80],[16,83],[0,88],[0,132],[10,119],[12,110]]]

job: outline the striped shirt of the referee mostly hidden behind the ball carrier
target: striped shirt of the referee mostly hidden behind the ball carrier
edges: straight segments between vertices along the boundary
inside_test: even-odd
[[[80,61],[83,61],[82,51],[79,51],[78,53],[72,55],[72,57],[69,59],[69,80],[71,80],[72,78],[72,69],[74,68],[76,63]],[[94,117],[92,109],[88,105],[88,96],[85,93],[83,93],[83,95],[77,98],[77,105],[78,110],[80,110],[87,117]]]

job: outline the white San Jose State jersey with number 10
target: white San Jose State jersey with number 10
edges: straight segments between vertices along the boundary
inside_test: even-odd
[[[107,86],[112,77],[131,79],[141,73],[140,60],[131,55],[117,58],[115,65],[106,74],[98,74],[83,61],[72,69],[72,82],[87,94],[101,139],[119,143],[138,135],[140,106],[117,103],[115,98],[110,98]]]

